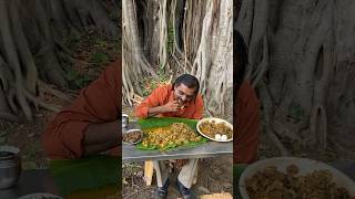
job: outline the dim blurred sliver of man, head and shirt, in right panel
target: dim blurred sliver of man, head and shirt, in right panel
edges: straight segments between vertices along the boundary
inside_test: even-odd
[[[234,164],[251,164],[257,159],[260,143],[260,102],[248,80],[244,80],[247,50],[242,34],[233,32]]]

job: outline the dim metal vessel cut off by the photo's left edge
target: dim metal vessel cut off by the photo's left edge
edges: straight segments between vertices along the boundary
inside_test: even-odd
[[[20,174],[20,149],[12,146],[0,146],[0,189],[14,186]]]

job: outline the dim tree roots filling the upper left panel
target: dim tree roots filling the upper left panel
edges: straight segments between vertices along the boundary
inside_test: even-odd
[[[0,118],[20,122],[33,119],[33,109],[59,112],[38,96],[44,93],[69,101],[57,91],[68,86],[63,36],[97,28],[116,36],[116,25],[99,0],[0,0]]]

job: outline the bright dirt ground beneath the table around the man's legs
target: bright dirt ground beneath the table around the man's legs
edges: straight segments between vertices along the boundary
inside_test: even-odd
[[[217,192],[233,192],[233,158],[217,157],[204,158],[199,161],[197,182],[192,187],[196,196]],[[128,198],[152,198],[156,187],[155,174],[151,186],[145,186],[143,163],[123,164],[123,191],[124,199]],[[176,199],[180,196],[175,182],[179,171],[174,170],[170,177],[168,199]]]

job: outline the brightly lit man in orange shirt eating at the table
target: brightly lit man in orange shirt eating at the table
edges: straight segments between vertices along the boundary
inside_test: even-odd
[[[192,75],[183,74],[173,84],[158,87],[135,109],[140,118],[151,116],[184,117],[201,119],[203,116],[203,100],[199,94],[199,80]],[[183,198],[195,198],[190,188],[195,178],[197,159],[178,160],[182,166],[176,186]],[[155,198],[166,198],[169,187],[169,168],[165,161],[154,161],[158,189]]]

